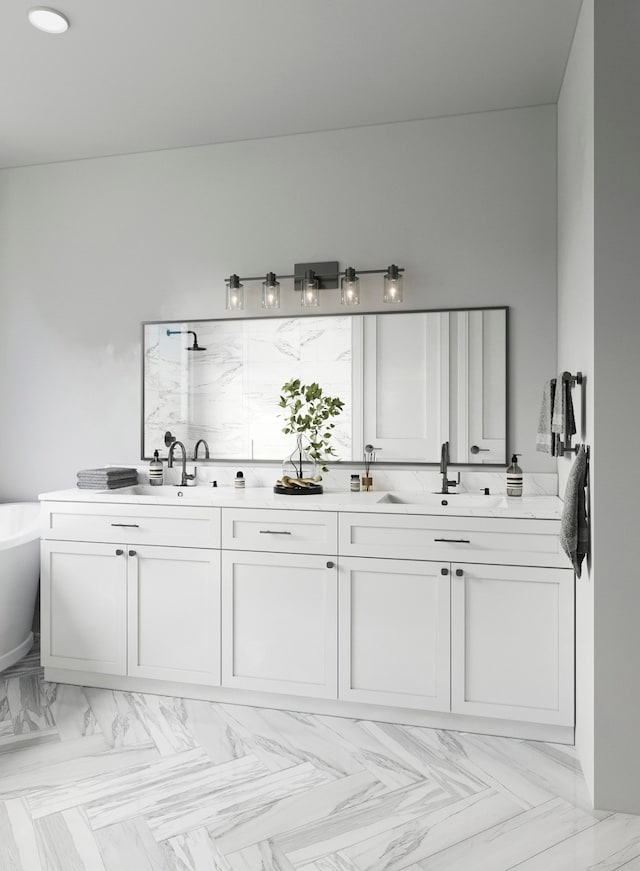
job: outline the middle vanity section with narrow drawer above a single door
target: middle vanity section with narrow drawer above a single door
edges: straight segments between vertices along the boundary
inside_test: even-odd
[[[336,699],[337,515],[225,509],[222,682]]]

